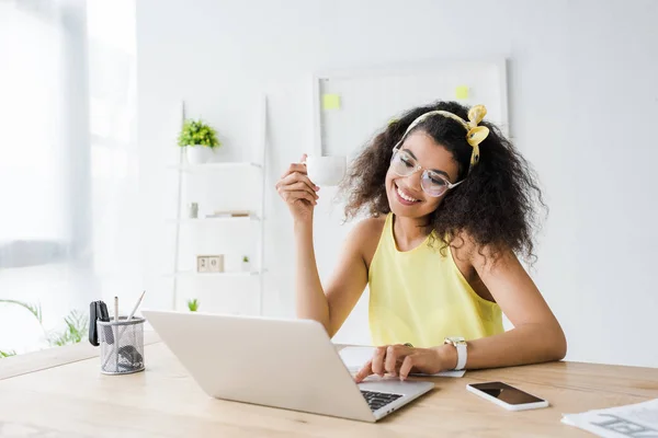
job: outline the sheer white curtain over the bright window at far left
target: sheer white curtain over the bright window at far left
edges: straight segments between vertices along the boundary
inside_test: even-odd
[[[140,289],[134,0],[0,3],[0,350]],[[45,332],[44,332],[45,330]]]

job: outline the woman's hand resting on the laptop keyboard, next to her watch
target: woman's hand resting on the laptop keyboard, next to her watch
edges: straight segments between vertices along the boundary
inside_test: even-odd
[[[377,347],[373,358],[354,376],[356,383],[371,374],[384,377],[389,373],[407,379],[410,372],[433,374],[449,369],[441,348],[415,348],[407,345]]]

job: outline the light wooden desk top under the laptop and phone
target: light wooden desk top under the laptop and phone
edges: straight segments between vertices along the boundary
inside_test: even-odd
[[[129,376],[101,374],[98,350],[82,344],[0,359],[0,436],[590,436],[560,424],[561,413],[658,397],[658,369],[558,362],[434,378],[433,392],[366,424],[211,399],[162,343],[151,335],[147,344],[147,370]],[[519,385],[552,407],[507,412],[464,388],[488,380]]]

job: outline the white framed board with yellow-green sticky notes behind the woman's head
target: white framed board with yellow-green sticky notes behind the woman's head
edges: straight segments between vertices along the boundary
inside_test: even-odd
[[[504,59],[316,73],[314,153],[350,160],[392,118],[440,100],[484,104],[509,135],[507,82]]]

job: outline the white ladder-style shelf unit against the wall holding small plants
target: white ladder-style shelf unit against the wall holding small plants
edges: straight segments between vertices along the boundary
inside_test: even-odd
[[[173,291],[171,298],[171,308],[177,310],[178,302],[178,288],[179,278],[181,277],[195,277],[195,278],[230,278],[230,277],[258,277],[258,314],[263,314],[263,293],[264,293],[264,212],[265,212],[265,157],[266,157],[266,122],[268,122],[268,102],[266,96],[262,96],[260,100],[260,114],[259,114],[259,141],[260,141],[260,162],[245,161],[245,162],[212,162],[204,164],[189,164],[186,162],[185,150],[181,148],[179,155],[179,163],[168,166],[170,170],[174,170],[178,173],[178,198],[177,198],[177,215],[175,218],[167,220],[167,222],[175,226],[175,242],[174,242],[174,254],[173,254],[173,272],[167,274],[167,277],[173,278]],[[182,122],[186,118],[185,105],[182,104]],[[182,125],[182,123],[181,123]],[[183,175],[188,173],[201,173],[201,172],[222,172],[225,170],[240,170],[240,169],[256,169],[259,172],[260,177],[260,206],[258,211],[252,211],[249,216],[238,217],[214,217],[214,218],[197,218],[191,219],[182,216],[182,200],[183,200]],[[219,226],[231,222],[259,222],[259,235],[258,235],[258,265],[256,269],[251,272],[225,272],[225,273],[197,273],[195,270],[182,270],[179,269],[180,262],[180,239],[181,228],[183,226]]]

